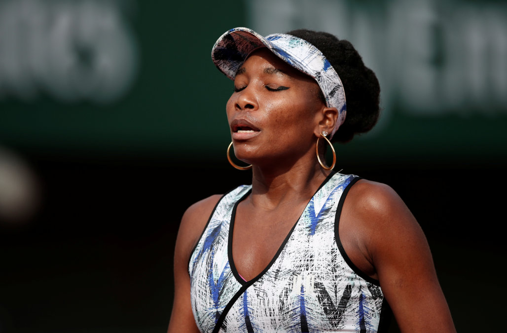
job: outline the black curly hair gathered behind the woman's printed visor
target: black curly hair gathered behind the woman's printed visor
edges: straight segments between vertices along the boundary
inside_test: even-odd
[[[343,83],[347,116],[332,141],[345,143],[352,140],[355,134],[371,130],[380,116],[380,85],[375,73],[365,66],[352,44],[328,32],[296,29],[286,33],[304,39],[319,49]],[[321,98],[324,100],[323,95]]]

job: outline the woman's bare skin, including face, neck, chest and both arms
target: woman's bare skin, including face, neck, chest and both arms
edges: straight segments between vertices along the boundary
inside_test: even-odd
[[[236,157],[252,164],[252,192],[238,204],[232,253],[249,280],[269,264],[308,201],[329,175],[315,156],[336,108],[318,85],[267,49],[238,70],[226,106]],[[188,261],[221,195],[185,212],[174,253],[174,303],[168,332],[198,332],[190,304]],[[251,235],[263,237],[251,237]],[[353,264],[380,281],[403,332],[455,332],[426,238],[402,199],[385,184],[359,180],[342,210],[340,239]]]

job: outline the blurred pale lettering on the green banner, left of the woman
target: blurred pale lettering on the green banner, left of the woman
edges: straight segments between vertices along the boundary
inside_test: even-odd
[[[133,83],[138,50],[120,1],[0,1],[0,98],[110,103]]]

